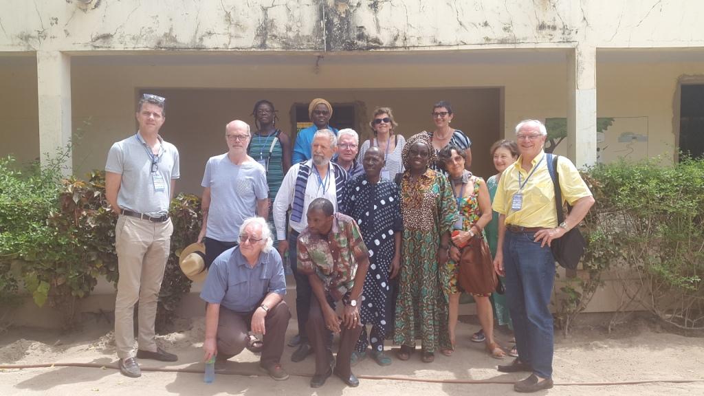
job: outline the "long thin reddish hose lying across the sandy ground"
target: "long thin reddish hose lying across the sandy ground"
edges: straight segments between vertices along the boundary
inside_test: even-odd
[[[49,369],[54,367],[89,367],[95,369],[114,369],[117,370],[118,366],[115,364],[97,364],[97,363],[44,363],[44,364],[6,364],[0,365],[0,370],[16,370],[16,369]],[[169,369],[165,367],[141,367],[142,371],[158,371],[161,373],[196,373],[202,374],[203,369]],[[265,376],[262,373],[253,373],[250,371],[237,371],[237,370],[226,370],[218,371],[219,375],[227,376]],[[298,377],[311,377],[311,375],[306,374],[291,374],[292,376]],[[510,385],[514,384],[513,380],[435,380],[431,378],[413,378],[405,376],[366,376],[360,375],[357,378],[365,380],[396,380],[396,381],[410,381],[410,382],[422,382],[422,383],[456,383],[456,384],[501,384]],[[647,383],[700,383],[704,380],[695,379],[658,379],[658,380],[629,380],[629,381],[617,381],[617,382],[571,382],[571,383],[555,383],[555,386],[614,386],[614,385],[642,385]]]

